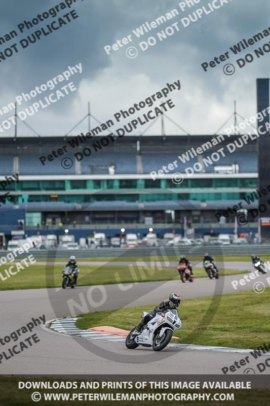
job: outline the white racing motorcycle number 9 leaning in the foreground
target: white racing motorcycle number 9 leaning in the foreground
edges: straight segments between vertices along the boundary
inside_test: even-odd
[[[141,318],[143,319],[147,314],[143,312]],[[138,346],[152,347],[154,351],[161,351],[170,343],[173,332],[181,328],[181,325],[176,309],[157,313],[156,317],[143,327],[140,334],[134,332],[136,327],[130,331],[126,338],[126,347],[129,349],[135,349]]]

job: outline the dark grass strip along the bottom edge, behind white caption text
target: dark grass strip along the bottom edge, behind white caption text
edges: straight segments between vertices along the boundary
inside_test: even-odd
[[[126,377],[127,378],[127,377]],[[128,379],[124,379],[124,381],[130,381]],[[184,380],[185,378],[182,376],[176,376],[175,381],[179,380]],[[207,377],[204,378],[205,381],[207,380]],[[92,379],[92,381],[98,381],[97,379]],[[166,381],[166,377],[163,379]],[[31,400],[31,394],[35,392],[35,389],[18,389],[18,382],[50,382],[51,385],[53,385],[53,382],[59,381],[59,382],[64,382],[67,381],[65,379],[55,379],[55,378],[20,378],[20,377],[5,377],[5,376],[0,376],[0,404],[3,406],[32,406],[35,402]],[[68,382],[73,382],[74,379],[68,379]],[[91,378],[89,376],[86,377],[85,379],[86,382],[91,381]],[[270,390],[268,389],[242,389],[242,390],[219,390],[219,389],[199,389],[199,390],[193,390],[193,389],[163,389],[163,390],[151,390],[149,386],[147,386],[145,389],[126,389],[126,390],[113,390],[113,389],[97,389],[97,390],[90,390],[90,389],[82,389],[81,387],[81,380],[76,380],[78,389],[38,389],[38,392],[42,394],[42,400],[39,401],[36,404],[40,406],[47,406],[48,404],[53,404],[53,405],[59,405],[59,406],[66,406],[67,404],[71,403],[74,406],[86,406],[89,405],[90,403],[93,406],[101,406],[104,404],[107,404],[109,406],[119,406],[121,404],[122,406],[130,406],[130,405],[137,405],[138,403],[140,406],[164,406],[165,402],[164,400],[158,401],[158,400],[149,400],[149,401],[106,401],[106,402],[101,402],[98,400],[73,400],[73,401],[46,401],[43,398],[44,393],[209,393],[213,394],[214,393],[234,393],[235,394],[235,400],[225,400],[225,401],[219,401],[219,400],[212,400],[211,405],[212,406],[219,406],[222,404],[223,406],[229,406],[229,405],[235,405],[235,406],[254,406],[254,404],[257,404],[259,402],[260,406],[268,406],[269,405],[269,395],[270,395]],[[212,396],[210,396],[211,398]],[[175,405],[175,401],[166,401],[166,404],[170,405]],[[202,406],[203,404],[206,404],[202,400],[194,400],[194,401],[177,401],[177,404],[181,404],[182,406],[188,406],[192,404],[193,406]]]

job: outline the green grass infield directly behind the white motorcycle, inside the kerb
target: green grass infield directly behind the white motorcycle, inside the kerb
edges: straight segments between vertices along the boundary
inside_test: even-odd
[[[173,333],[179,337],[175,342],[247,349],[269,343],[269,301],[270,288],[262,294],[252,290],[182,300],[182,328]],[[142,312],[156,304],[88,313],[81,315],[76,325],[82,329],[113,326],[131,330],[140,322]]]

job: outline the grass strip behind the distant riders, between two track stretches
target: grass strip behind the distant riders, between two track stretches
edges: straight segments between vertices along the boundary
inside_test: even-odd
[[[0,273],[2,273],[3,277],[6,276],[4,269],[5,267],[2,265]],[[60,287],[62,284],[62,269],[63,265],[57,263],[54,265],[33,264],[4,281],[0,278],[0,290]],[[239,273],[245,273],[245,271],[239,272],[237,269],[226,269],[224,271],[220,269],[220,275],[235,275]],[[194,274],[196,278],[206,277],[203,268],[195,268]],[[130,267],[111,265],[110,263],[102,266],[81,265],[78,286],[179,280],[178,275],[176,266],[161,268],[159,265],[156,267],[152,265],[150,267],[136,265],[135,263]]]

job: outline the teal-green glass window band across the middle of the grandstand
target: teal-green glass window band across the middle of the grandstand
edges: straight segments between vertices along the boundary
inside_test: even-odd
[[[49,202],[89,203],[94,201],[157,201],[157,200],[218,200],[241,199],[250,189],[257,187],[256,178],[185,179],[180,185],[171,179],[152,181],[149,179],[106,180],[31,180],[20,181],[9,190],[14,203]],[[172,193],[170,191],[172,190]],[[219,191],[224,189],[224,191]],[[241,192],[241,190],[246,190]],[[177,191],[179,190],[179,193]],[[206,191],[207,190],[207,191]],[[218,192],[217,192],[218,190]],[[38,195],[31,192],[38,191]],[[75,194],[70,193],[76,192]],[[82,193],[80,193],[80,191]],[[63,192],[67,192],[66,194]]]

